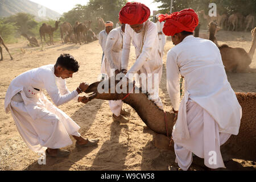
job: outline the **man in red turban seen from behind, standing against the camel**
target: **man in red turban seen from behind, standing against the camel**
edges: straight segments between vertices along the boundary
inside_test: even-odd
[[[176,162],[187,170],[193,153],[209,168],[224,168],[220,146],[238,134],[242,110],[220,50],[212,41],[193,36],[198,17],[192,9],[160,15],[159,20],[166,20],[163,32],[175,44],[167,54],[166,75],[172,110],[179,111],[171,140]],[[185,79],[181,102],[180,75]]]

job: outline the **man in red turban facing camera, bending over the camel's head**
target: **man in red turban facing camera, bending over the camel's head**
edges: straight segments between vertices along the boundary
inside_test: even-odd
[[[148,98],[162,108],[162,101],[158,93],[163,61],[159,50],[158,28],[155,23],[148,20],[149,16],[150,9],[139,2],[128,2],[119,12],[120,22],[127,24],[123,36],[121,58],[121,72],[126,73],[126,77],[122,79],[122,82],[128,77],[134,77],[133,74],[139,73],[142,89],[147,90],[150,94]],[[131,40],[135,47],[136,61],[127,72]],[[142,82],[146,84],[142,84]],[[147,86],[147,84],[151,86]]]

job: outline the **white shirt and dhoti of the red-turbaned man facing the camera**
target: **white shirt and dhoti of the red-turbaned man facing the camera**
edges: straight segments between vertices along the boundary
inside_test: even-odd
[[[143,26],[144,24],[145,23],[143,23]],[[160,80],[162,78],[163,60],[160,56],[158,29],[156,24],[148,21],[142,51],[142,32],[137,34],[128,24],[125,26],[122,50],[122,69],[127,69],[128,67],[131,42],[135,47],[136,61],[127,72],[126,77],[129,77],[129,73],[144,73],[147,81],[149,79],[152,80],[152,90],[154,90],[154,92],[147,89],[150,93],[150,98],[154,100],[159,107],[162,107],[162,102],[158,93]],[[155,88],[154,80],[156,76],[158,76],[158,80],[156,80],[158,83],[155,84]],[[143,88],[145,85],[141,86]]]

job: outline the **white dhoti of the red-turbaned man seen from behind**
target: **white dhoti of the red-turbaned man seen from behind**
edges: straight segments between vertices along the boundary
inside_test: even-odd
[[[190,138],[174,140],[176,154],[175,162],[183,170],[192,164],[192,152],[204,158],[205,166],[209,168],[225,168],[220,146],[231,134],[219,133],[218,124],[203,107],[192,100],[187,102],[187,124]]]

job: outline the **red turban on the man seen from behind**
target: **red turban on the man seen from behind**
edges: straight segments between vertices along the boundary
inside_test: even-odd
[[[170,15],[159,15],[159,21],[164,23],[163,32],[167,36],[174,36],[175,34],[187,31],[193,32],[197,27],[199,20],[193,9],[184,9]]]

